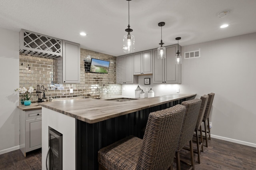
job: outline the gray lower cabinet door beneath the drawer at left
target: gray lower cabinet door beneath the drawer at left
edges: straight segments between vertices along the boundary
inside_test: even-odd
[[[26,120],[26,152],[42,147],[42,118]]]

